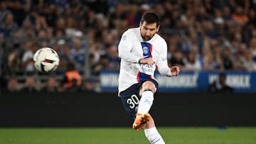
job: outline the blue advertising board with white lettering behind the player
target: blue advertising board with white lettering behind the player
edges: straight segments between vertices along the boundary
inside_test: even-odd
[[[100,74],[102,91],[117,91],[119,71],[103,71]],[[219,72],[181,72],[178,77],[164,77],[156,73],[159,92],[207,91],[210,84],[218,79]],[[226,82],[235,92],[256,92],[255,72],[226,72]]]

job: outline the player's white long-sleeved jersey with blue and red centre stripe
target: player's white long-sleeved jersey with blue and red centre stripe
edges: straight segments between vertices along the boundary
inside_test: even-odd
[[[144,79],[155,79],[157,70],[160,74],[171,76],[167,63],[167,44],[157,33],[149,41],[144,41],[139,28],[129,28],[122,35],[118,45],[121,57],[119,71],[119,92]],[[154,65],[139,65],[139,59],[152,57]],[[157,82],[157,80],[156,80]]]

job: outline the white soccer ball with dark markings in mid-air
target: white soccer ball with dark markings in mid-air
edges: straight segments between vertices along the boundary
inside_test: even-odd
[[[41,48],[33,55],[36,70],[43,73],[53,72],[57,69],[60,59],[58,53],[52,48]]]

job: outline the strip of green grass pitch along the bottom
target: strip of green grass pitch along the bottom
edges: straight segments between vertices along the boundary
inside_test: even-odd
[[[254,128],[160,127],[166,144],[255,144]],[[132,128],[0,128],[1,144],[148,144]]]

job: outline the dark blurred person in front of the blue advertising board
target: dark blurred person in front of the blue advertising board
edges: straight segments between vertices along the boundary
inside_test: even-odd
[[[226,83],[226,74],[225,72],[220,72],[218,79],[216,79],[208,89],[208,92],[215,93],[232,93],[234,90],[232,87],[228,86]]]

